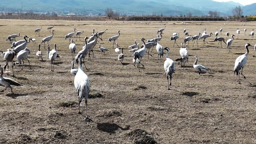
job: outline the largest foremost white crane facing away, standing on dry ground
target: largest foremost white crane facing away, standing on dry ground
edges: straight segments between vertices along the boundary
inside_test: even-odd
[[[88,76],[83,72],[83,69],[82,69],[82,57],[83,57],[83,54],[79,53],[78,55],[79,67],[78,67],[76,76],[74,77],[74,87],[76,88],[77,96],[79,99],[79,114],[81,114],[80,103],[82,102],[82,99],[85,98],[85,110],[86,110],[85,119],[88,119],[87,118],[87,100],[90,92],[90,82],[89,82]]]

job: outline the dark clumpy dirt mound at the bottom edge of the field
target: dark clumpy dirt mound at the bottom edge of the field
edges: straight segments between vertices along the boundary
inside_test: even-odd
[[[135,144],[158,144],[155,138],[144,129],[135,129],[127,134]]]

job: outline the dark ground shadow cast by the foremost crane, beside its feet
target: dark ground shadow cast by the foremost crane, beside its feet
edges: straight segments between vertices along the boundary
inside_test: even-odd
[[[115,134],[118,129],[122,129],[123,131],[129,130],[129,126],[122,128],[116,123],[97,123],[97,129],[103,132]]]

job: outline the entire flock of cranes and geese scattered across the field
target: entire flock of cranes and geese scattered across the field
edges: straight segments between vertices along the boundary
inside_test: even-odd
[[[198,46],[198,39],[203,39],[203,45],[204,45],[205,40],[208,37],[211,37],[213,35],[213,33],[207,34],[206,28],[205,28],[204,30],[202,30],[203,31],[202,34],[198,33],[197,35],[192,37],[192,36],[189,36],[189,33],[188,33],[188,31],[185,27],[185,29],[183,30],[184,35],[187,36],[184,39],[185,47],[183,47],[183,43],[181,43],[180,58],[172,60],[168,57],[168,53],[170,52],[170,48],[168,48],[168,47],[164,48],[162,45],[159,44],[159,41],[162,39],[162,34],[164,34],[163,31],[165,30],[166,23],[164,25],[165,25],[164,28],[161,28],[157,31],[157,33],[159,35],[157,35],[156,38],[149,39],[149,40],[147,40],[146,43],[145,43],[146,40],[144,38],[142,38],[141,42],[143,43],[143,45],[141,45],[141,48],[139,46],[139,43],[137,43],[137,40],[135,39],[135,41],[134,41],[135,44],[133,44],[131,46],[128,46],[128,48],[131,48],[131,50],[129,50],[128,52],[133,52],[132,62],[134,63],[134,66],[135,66],[135,64],[137,64],[138,71],[140,72],[140,64],[142,65],[142,67],[144,67],[144,65],[141,63],[141,59],[143,58],[144,55],[146,55],[146,53],[148,53],[148,58],[149,58],[150,49],[153,50],[153,47],[154,46],[156,47],[156,51],[158,53],[158,61],[159,61],[159,57],[160,57],[160,62],[161,62],[161,57],[164,56],[164,50],[166,50],[166,53],[165,53],[166,60],[164,62],[164,70],[165,70],[165,75],[167,76],[168,89],[170,89],[171,79],[172,79],[173,73],[175,73],[175,63],[174,63],[174,61],[177,61],[177,62],[181,63],[181,65],[183,66],[183,69],[185,68],[186,62],[188,62],[188,59],[189,59],[189,53],[188,53],[189,41],[190,40],[194,41],[193,46],[194,46],[195,41],[196,41],[196,44]],[[46,51],[47,52],[47,58],[49,58],[49,61],[51,62],[51,71],[54,71],[54,62],[55,62],[55,59],[58,56],[58,50],[56,48],[56,44],[54,44],[54,49],[52,49],[52,50],[50,50],[50,47],[49,47],[49,44],[48,44],[48,42],[54,36],[54,31],[55,30],[51,30],[52,28],[54,28],[54,25],[52,25],[52,27],[47,28],[47,30],[49,30],[49,32],[52,31],[52,35],[42,39],[41,44],[38,45],[38,51],[36,53],[36,56],[37,56],[38,59],[40,58],[40,59],[43,60],[43,58],[42,58],[43,54],[40,51],[40,46],[42,45],[42,43],[44,43],[44,47],[45,47],[45,42],[47,42],[47,51]],[[42,26],[40,28],[35,29],[34,32],[36,33],[36,35],[38,33],[39,36],[40,36],[40,33],[39,33],[40,30],[42,30]],[[85,117],[85,119],[88,119],[88,117],[87,117],[87,99],[88,99],[88,95],[89,95],[90,86],[89,86],[89,77],[83,72],[82,63],[84,64],[86,70],[88,70],[86,65],[85,65],[84,59],[88,55],[88,60],[91,60],[91,52],[92,52],[92,55],[94,56],[93,48],[96,46],[96,44],[98,42],[98,39],[103,41],[102,35],[106,32],[106,30],[101,31],[100,33],[98,33],[97,31],[95,33],[95,30],[93,30],[93,33],[91,34],[91,36],[89,38],[85,37],[85,42],[83,43],[83,48],[82,48],[82,50],[80,50],[77,53],[77,55],[75,55],[76,45],[75,45],[74,40],[72,39],[72,37],[76,33],[76,41],[77,41],[77,37],[79,37],[79,40],[80,40],[80,35],[84,32],[83,31],[77,31],[76,32],[76,28],[74,28],[73,32],[68,33],[67,35],[65,35],[65,39],[68,39],[68,41],[69,41],[69,49],[71,51],[71,57],[72,57],[71,64],[72,64],[72,66],[71,66],[70,73],[73,76],[75,76],[74,77],[74,86],[75,86],[76,91],[77,91],[77,96],[79,97],[79,113],[80,113],[80,102],[82,102],[82,99],[85,98],[85,104],[86,104],[86,117]],[[221,27],[220,30],[219,30],[220,34],[222,33],[222,30],[223,30],[223,28]],[[251,32],[252,39],[253,39],[253,36],[254,36],[254,31],[253,30]],[[224,42],[226,44],[226,47],[229,48],[229,52],[230,52],[230,46],[231,46],[231,44],[234,40],[235,35],[232,34],[231,35],[232,39],[227,39],[227,37],[229,36],[229,32],[227,32],[226,33],[226,42],[225,42],[224,37],[217,37],[219,32],[216,31],[214,42],[219,41],[221,46],[222,46],[222,42]],[[246,33],[246,29],[244,29],[244,32]],[[240,34],[240,30],[237,28],[237,38],[238,38],[239,34]],[[28,55],[30,54],[30,50],[27,48],[27,43],[29,43],[30,40],[33,41],[33,39],[24,35],[24,37],[23,37],[24,40],[16,41],[15,38],[19,37],[19,36],[20,36],[20,33],[12,34],[12,35],[8,36],[7,40],[9,40],[12,43],[11,48],[7,49],[6,52],[0,51],[2,53],[2,55],[4,56],[4,60],[6,61],[6,64],[4,65],[4,67],[0,66],[0,71],[1,71],[1,73],[0,73],[0,86],[4,86],[5,87],[4,90],[6,90],[7,88],[10,88],[11,92],[12,92],[13,87],[22,86],[22,85],[20,83],[16,82],[15,80],[13,80],[13,79],[3,77],[3,73],[5,72],[6,67],[7,67],[7,74],[8,74],[8,71],[9,71],[8,63],[12,62],[12,73],[13,73],[13,67],[16,64],[21,64],[21,61],[23,62],[21,70],[22,70],[23,65],[24,65],[24,60],[27,60],[29,66],[30,66],[30,61],[27,59]],[[114,48],[114,45],[116,45],[115,53],[118,54],[117,59],[122,63],[125,55],[124,55],[124,51],[123,51],[124,47],[121,48],[122,51],[120,53],[120,49],[118,48],[118,43],[116,43],[116,40],[119,38],[119,36],[120,36],[120,31],[118,30],[118,35],[110,37],[108,39],[108,42],[113,41],[113,48]],[[173,36],[171,36],[171,38],[170,38],[170,40],[174,40],[173,46],[175,45],[175,43],[178,46],[178,44],[176,42],[177,39],[179,39],[179,33],[173,33]],[[13,40],[15,42],[13,42]],[[34,41],[35,41],[35,39],[34,39]],[[208,43],[208,42],[206,42],[206,43]],[[217,48],[219,47],[219,43],[218,43]],[[241,75],[243,75],[243,68],[244,68],[244,66],[247,62],[247,55],[249,53],[249,50],[248,50],[249,46],[251,46],[251,45],[249,43],[247,43],[245,45],[245,47],[247,49],[247,52],[245,54],[241,55],[241,56],[238,56],[238,58],[235,60],[234,74],[236,73],[237,76],[238,76],[238,83],[240,83],[240,70],[241,70]],[[101,52],[101,54],[105,54],[105,52],[109,51],[108,49],[101,47],[101,44],[99,44],[98,49]],[[255,50],[256,50],[256,45],[255,45]],[[15,58],[15,56],[17,58],[17,61],[15,63],[13,63],[13,59]],[[207,67],[204,67],[203,65],[197,64],[198,56],[193,56],[193,57],[195,58],[195,62],[193,63],[193,68],[195,69],[195,71],[197,71],[199,74],[201,74],[203,72],[210,71],[210,68],[207,68]],[[83,61],[82,61],[82,59],[83,59]],[[78,69],[74,69],[74,61],[76,62],[76,64],[79,64]],[[30,69],[31,69],[31,67],[30,67]],[[13,76],[14,76],[14,73],[13,73]],[[170,77],[170,84],[169,84],[169,77]],[[246,79],[245,76],[244,76],[244,79]]]

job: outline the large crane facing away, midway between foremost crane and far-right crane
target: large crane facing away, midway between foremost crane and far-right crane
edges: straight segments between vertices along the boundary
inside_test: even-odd
[[[165,50],[167,50],[166,54],[165,54],[165,62],[164,62],[164,70],[165,70],[165,75],[167,76],[167,82],[168,82],[168,90],[170,90],[170,86],[171,86],[171,78],[173,76],[173,73],[175,73],[175,64],[174,61],[170,58],[168,58],[168,52],[170,51],[170,49],[168,47],[164,48]],[[170,85],[169,85],[169,76],[170,76]]]

